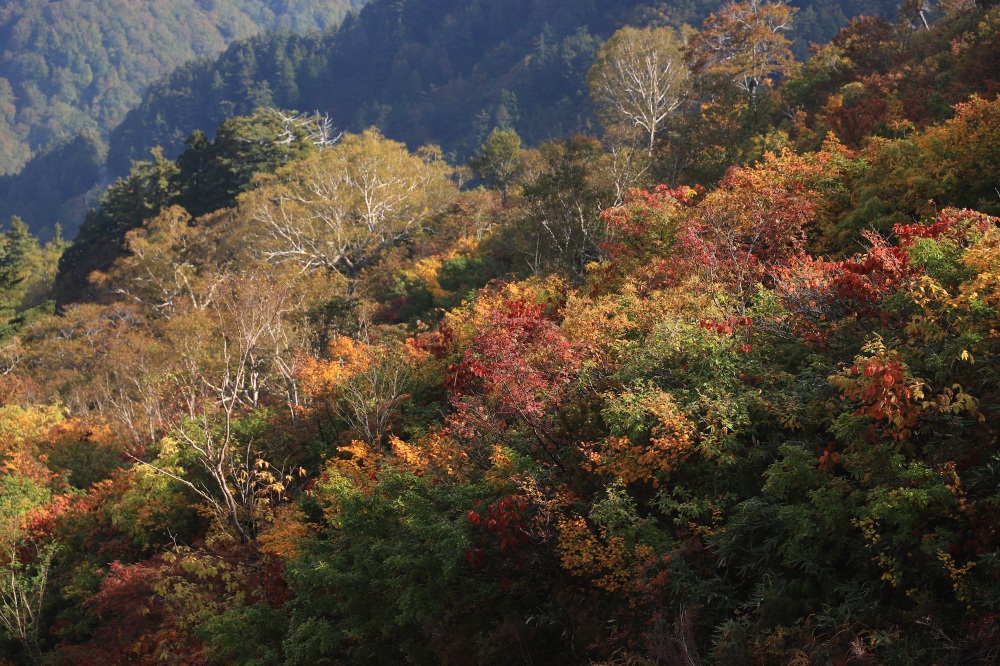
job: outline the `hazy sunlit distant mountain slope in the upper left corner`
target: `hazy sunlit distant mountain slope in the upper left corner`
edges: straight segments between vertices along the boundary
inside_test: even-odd
[[[2,0],[0,175],[82,130],[106,133],[146,87],[263,30],[330,30],[362,0]]]

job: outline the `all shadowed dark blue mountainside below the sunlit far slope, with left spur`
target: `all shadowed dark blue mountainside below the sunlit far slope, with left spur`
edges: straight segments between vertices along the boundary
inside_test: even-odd
[[[411,147],[436,143],[462,159],[496,124],[516,128],[529,145],[593,132],[585,77],[601,40],[625,23],[697,25],[720,4],[379,0],[337,32],[241,40],[218,60],[189,62],[155,84],[114,131],[109,171],[91,166],[105,153],[82,137],[39,156],[21,177],[0,179],[0,218],[18,214],[45,238],[61,222],[73,236],[99,174],[123,175],[157,145],[176,157],[194,130],[210,134],[224,118],[262,106],[328,113],[341,130],[376,125]],[[805,57],[810,42],[828,41],[847,17],[891,16],[895,5],[804,1],[794,48]],[[340,5],[322,6],[340,15]]]

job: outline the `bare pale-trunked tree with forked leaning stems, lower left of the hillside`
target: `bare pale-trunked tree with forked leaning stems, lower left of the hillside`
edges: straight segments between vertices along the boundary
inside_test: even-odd
[[[255,465],[247,462],[250,442],[237,441],[233,428],[266,393],[278,390],[275,382],[292,381],[286,319],[293,306],[290,289],[251,273],[232,277],[212,308],[171,319],[164,337],[174,352],[175,367],[166,374],[171,393],[181,402],[181,417],[171,436],[194,454],[208,482],[192,481],[182,471],[134,457],[205,500],[244,542],[250,539],[247,526],[253,522],[247,477]]]

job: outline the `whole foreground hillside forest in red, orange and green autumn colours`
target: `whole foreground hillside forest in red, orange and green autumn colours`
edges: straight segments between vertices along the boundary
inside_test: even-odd
[[[12,220],[0,664],[998,663],[1000,5],[796,9],[591,26],[591,133],[258,109]]]

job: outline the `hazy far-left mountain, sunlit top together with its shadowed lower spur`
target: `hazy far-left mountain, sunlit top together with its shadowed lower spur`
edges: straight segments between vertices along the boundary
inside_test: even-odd
[[[110,131],[151,83],[262,31],[330,31],[362,4],[0,2],[0,216],[23,215],[45,237],[57,222],[75,230]]]

